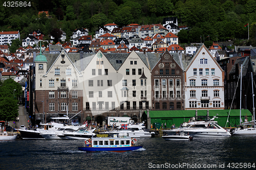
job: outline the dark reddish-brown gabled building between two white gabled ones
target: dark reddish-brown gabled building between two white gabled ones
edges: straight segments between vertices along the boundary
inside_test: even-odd
[[[152,69],[152,110],[184,110],[183,70],[179,56],[167,50]]]

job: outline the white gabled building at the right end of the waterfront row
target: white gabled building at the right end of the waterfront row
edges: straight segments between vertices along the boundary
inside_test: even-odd
[[[184,71],[185,110],[224,109],[224,71],[203,44]]]

